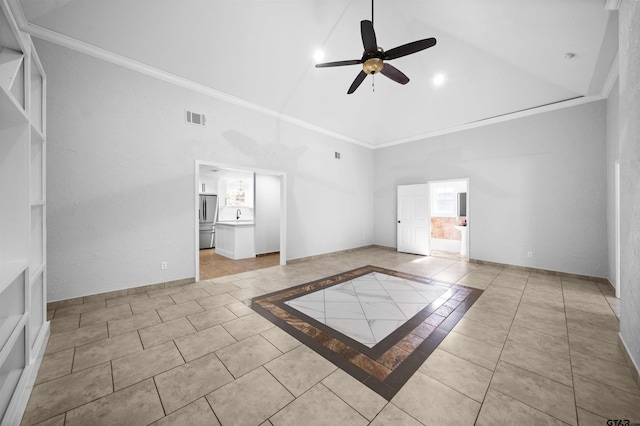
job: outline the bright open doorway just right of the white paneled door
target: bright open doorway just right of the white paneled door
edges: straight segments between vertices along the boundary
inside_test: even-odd
[[[429,182],[432,255],[469,257],[469,179]]]

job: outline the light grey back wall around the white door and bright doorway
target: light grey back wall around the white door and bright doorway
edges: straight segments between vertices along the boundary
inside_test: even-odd
[[[375,242],[397,185],[469,177],[471,259],[605,277],[605,157],[605,101],[376,150]]]

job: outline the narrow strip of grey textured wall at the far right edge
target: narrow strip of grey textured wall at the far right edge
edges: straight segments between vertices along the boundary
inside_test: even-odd
[[[640,3],[620,6],[620,337],[640,368]]]

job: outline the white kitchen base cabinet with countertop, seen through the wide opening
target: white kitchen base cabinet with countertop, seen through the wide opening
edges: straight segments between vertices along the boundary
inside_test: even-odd
[[[233,260],[256,257],[254,228],[253,222],[216,223],[216,254]]]

